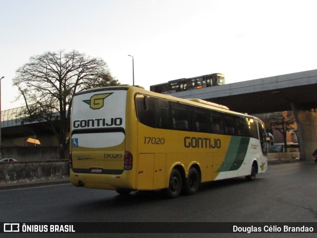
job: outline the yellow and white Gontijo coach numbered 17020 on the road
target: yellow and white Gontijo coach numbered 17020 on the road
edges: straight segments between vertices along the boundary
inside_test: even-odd
[[[129,85],[77,93],[70,140],[71,183],[120,194],[164,190],[174,198],[267,169],[258,118]]]

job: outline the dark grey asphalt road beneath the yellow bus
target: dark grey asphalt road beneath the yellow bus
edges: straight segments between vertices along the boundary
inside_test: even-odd
[[[317,165],[308,161],[270,165],[267,173],[258,175],[252,182],[237,178],[205,183],[195,195],[181,195],[176,199],[165,199],[160,191],[138,191],[123,197],[115,191],[76,188],[70,184],[2,190],[0,222],[317,222],[316,200]],[[179,234],[170,235],[179,237]],[[186,234],[186,237],[198,237],[195,235]],[[227,235],[224,237],[252,234]],[[298,234],[274,235],[299,237]],[[124,236],[131,237],[131,234]],[[166,237],[151,235],[163,236]],[[105,237],[122,236],[107,234]],[[256,237],[267,237],[267,234]]]

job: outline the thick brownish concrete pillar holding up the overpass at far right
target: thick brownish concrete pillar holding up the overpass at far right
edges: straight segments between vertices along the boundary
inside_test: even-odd
[[[291,104],[294,115],[296,115],[295,118],[299,132],[301,160],[313,159],[312,154],[317,148],[317,112],[314,109],[294,111],[293,107],[295,106],[293,103]],[[302,139],[300,137],[302,137]]]

